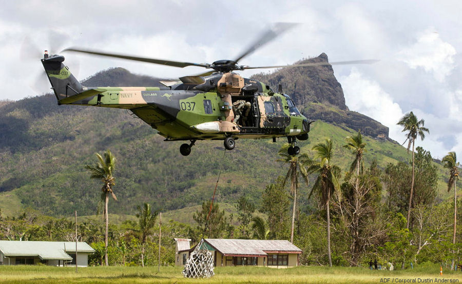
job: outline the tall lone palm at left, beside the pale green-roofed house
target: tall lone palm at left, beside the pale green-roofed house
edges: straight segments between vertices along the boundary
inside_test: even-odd
[[[104,202],[104,212],[103,218],[106,218],[106,233],[104,236],[104,244],[105,244],[105,262],[106,266],[109,265],[109,261],[107,259],[107,233],[109,228],[109,218],[107,212],[107,204],[109,202],[109,194],[111,194],[112,198],[117,201],[117,197],[115,196],[114,192],[112,191],[112,186],[115,185],[115,177],[112,175],[115,167],[115,157],[112,155],[111,151],[106,150],[104,153],[104,158],[96,153],[98,157],[98,163],[95,167],[86,165],[85,169],[90,171],[91,175],[90,178],[98,178],[103,181],[103,187],[101,188],[101,198],[100,202],[98,203],[98,211],[97,214],[100,213],[101,206]]]

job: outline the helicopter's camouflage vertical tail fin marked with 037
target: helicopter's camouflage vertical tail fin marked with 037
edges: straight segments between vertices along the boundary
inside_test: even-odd
[[[45,51],[42,59],[43,67],[50,80],[51,87],[58,101],[83,92],[82,84],[71,74],[63,64],[64,56],[51,55]]]

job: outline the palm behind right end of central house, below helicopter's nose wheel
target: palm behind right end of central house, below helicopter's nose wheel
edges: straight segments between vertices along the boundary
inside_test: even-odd
[[[295,209],[297,205],[297,189],[299,187],[298,184],[298,173],[301,173],[303,179],[305,180],[306,184],[308,184],[308,173],[306,172],[306,167],[304,166],[310,158],[306,154],[301,154],[299,156],[292,156],[287,154],[287,149],[290,147],[290,144],[284,145],[279,150],[279,156],[281,158],[277,159],[277,161],[281,161],[283,163],[287,163],[289,165],[289,169],[287,174],[284,177],[282,186],[285,186],[287,179],[291,179],[291,194],[294,196],[294,208],[292,210],[292,228],[291,228],[291,242],[294,242],[294,223],[295,223]]]

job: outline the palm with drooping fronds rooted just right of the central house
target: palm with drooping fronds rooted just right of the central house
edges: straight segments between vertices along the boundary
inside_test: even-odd
[[[312,160],[307,169],[309,173],[316,173],[315,184],[308,196],[310,199],[313,192],[320,192],[321,205],[326,209],[327,216],[327,235],[328,235],[328,256],[329,266],[332,267],[331,256],[331,216],[329,209],[329,201],[334,192],[340,192],[340,184],[338,176],[340,175],[340,168],[332,165],[331,160],[333,156],[333,143],[331,139],[325,139],[325,143],[318,143],[313,147],[315,153],[315,160]]]

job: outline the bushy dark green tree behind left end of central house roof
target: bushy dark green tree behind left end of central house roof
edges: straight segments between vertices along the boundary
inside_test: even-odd
[[[214,203],[210,211],[210,205],[211,200],[202,202],[202,210],[196,210],[196,213],[192,214],[192,218],[197,222],[197,229],[202,235],[209,238],[221,238],[227,225],[224,210],[220,211],[218,204]],[[210,216],[207,220],[209,211]]]

